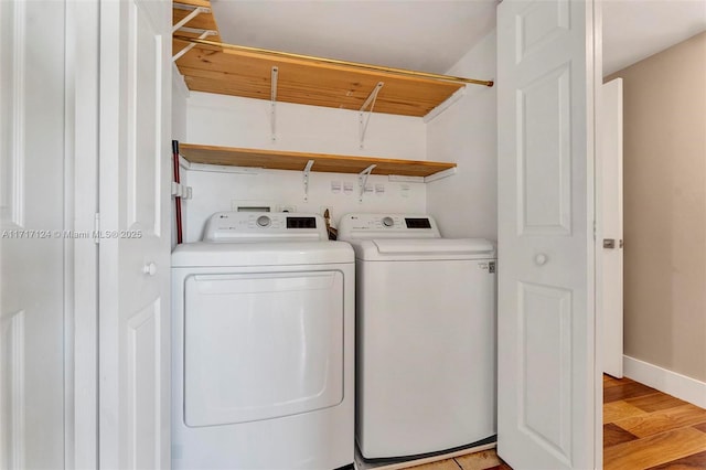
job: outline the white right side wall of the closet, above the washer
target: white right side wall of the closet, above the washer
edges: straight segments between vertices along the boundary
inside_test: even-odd
[[[495,32],[448,74],[492,79]],[[427,125],[427,158],[458,163],[454,177],[427,185],[427,210],[443,236],[498,238],[495,95],[495,87],[468,85],[461,100]]]

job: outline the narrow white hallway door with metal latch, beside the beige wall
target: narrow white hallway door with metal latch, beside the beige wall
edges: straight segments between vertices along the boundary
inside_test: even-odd
[[[596,191],[596,309],[602,312],[603,372],[622,377],[622,78],[602,86]]]

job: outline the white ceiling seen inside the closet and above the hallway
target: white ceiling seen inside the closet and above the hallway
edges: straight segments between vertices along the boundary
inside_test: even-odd
[[[431,73],[446,73],[494,29],[498,3],[212,0],[226,43]],[[706,0],[605,0],[603,74],[704,30]]]

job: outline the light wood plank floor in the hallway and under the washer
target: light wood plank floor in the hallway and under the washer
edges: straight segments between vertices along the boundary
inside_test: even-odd
[[[706,409],[630,378],[603,376],[605,470],[706,469]],[[495,450],[414,470],[512,470]]]

